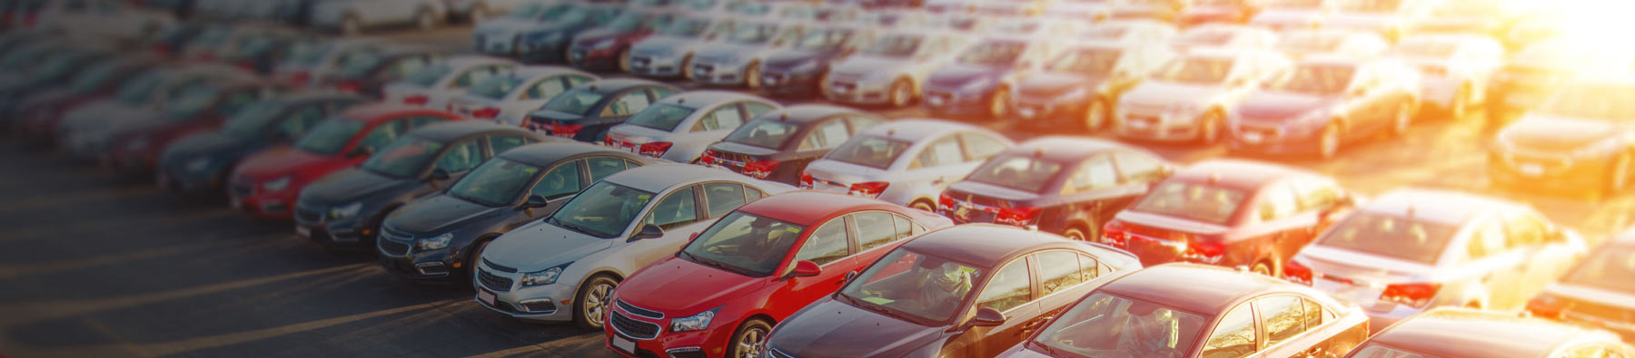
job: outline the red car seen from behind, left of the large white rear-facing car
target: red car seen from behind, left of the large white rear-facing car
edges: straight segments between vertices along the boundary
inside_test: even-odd
[[[1177,172],[1102,227],[1141,265],[1192,262],[1280,276],[1283,263],[1349,213],[1334,180],[1306,170],[1210,160]]]

